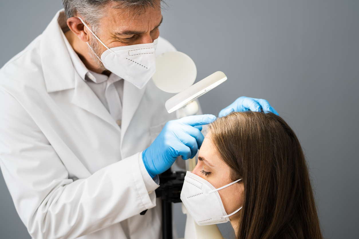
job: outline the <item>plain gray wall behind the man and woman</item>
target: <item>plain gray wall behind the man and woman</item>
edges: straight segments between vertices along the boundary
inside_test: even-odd
[[[359,225],[358,0],[167,0],[161,35],[196,63],[197,80],[228,80],[200,98],[204,113],[237,97],[267,99],[305,149],[326,238]],[[0,1],[0,66],[45,29],[60,0]],[[174,207],[178,235],[183,216]],[[221,225],[228,234],[228,224]],[[230,236],[230,231],[227,237]],[[0,238],[30,238],[0,177]]]

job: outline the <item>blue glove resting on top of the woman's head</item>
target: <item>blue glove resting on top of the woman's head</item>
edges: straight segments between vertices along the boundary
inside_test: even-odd
[[[250,98],[246,96],[241,96],[235,100],[232,104],[225,107],[218,114],[218,117],[223,117],[228,115],[233,111],[261,111],[261,108],[264,112],[272,112],[276,115],[279,115],[277,111],[270,106],[269,102],[264,99]]]

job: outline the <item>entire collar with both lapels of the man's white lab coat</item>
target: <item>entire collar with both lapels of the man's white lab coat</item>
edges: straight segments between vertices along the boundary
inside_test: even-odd
[[[47,92],[56,92],[75,88],[72,103],[97,115],[118,130],[120,128],[112,118],[101,101],[94,92],[80,77],[79,72],[75,71],[69,52],[66,49],[66,43],[63,38],[63,32],[59,22],[65,18],[64,10],[56,13],[50,24],[42,34],[40,43],[41,63]],[[122,101],[122,124],[121,124],[121,142],[130,125],[137,107],[145,93],[146,86],[138,89],[132,83],[124,81],[123,101]]]

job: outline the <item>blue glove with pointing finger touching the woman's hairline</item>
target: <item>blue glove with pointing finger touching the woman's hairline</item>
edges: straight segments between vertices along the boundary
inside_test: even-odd
[[[202,127],[213,122],[214,115],[192,115],[168,121],[150,147],[142,153],[147,172],[153,178],[169,169],[178,156],[195,157],[204,136]]]

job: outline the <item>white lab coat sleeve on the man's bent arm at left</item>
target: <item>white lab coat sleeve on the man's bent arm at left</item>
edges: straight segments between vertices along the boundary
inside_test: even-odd
[[[141,173],[141,153],[73,181],[36,123],[1,88],[0,112],[1,171],[33,238],[77,238],[156,205],[149,191],[158,185]]]

